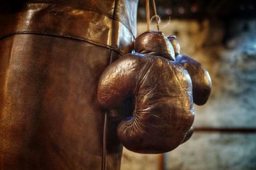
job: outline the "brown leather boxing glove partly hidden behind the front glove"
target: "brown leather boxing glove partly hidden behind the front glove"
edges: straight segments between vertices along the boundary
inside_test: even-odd
[[[191,77],[194,103],[197,105],[205,104],[209,99],[212,88],[212,81],[208,71],[200,62],[186,55],[180,55],[180,45],[175,36],[168,36],[168,39],[172,43],[176,61],[186,68]]]

